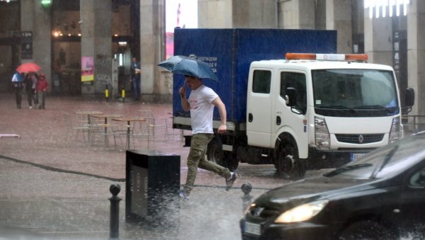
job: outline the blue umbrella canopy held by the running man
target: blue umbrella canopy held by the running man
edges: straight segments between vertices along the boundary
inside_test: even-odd
[[[213,79],[218,81],[217,76],[208,64],[198,59],[185,56],[174,56],[158,64],[159,67],[169,70],[174,74],[197,76],[200,79]]]

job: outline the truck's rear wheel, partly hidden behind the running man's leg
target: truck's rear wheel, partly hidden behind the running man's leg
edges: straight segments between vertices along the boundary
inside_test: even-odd
[[[236,170],[239,164],[233,152],[223,151],[221,139],[218,137],[214,137],[210,143],[208,143],[207,159],[228,168],[229,171]]]

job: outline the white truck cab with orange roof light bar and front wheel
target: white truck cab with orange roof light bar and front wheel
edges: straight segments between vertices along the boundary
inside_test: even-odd
[[[273,149],[278,173],[297,178],[307,168],[340,166],[400,139],[394,70],[365,60],[367,55],[288,53],[286,59],[252,62],[247,145]],[[413,105],[413,90],[406,96],[406,105]]]

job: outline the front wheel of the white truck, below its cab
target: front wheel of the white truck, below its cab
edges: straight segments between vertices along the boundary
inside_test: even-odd
[[[276,166],[280,178],[296,180],[305,176],[306,167],[303,161],[298,159],[296,144],[289,140],[282,142]]]

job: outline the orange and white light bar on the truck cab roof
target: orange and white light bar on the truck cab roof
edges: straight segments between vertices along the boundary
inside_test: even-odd
[[[328,60],[328,61],[367,61],[367,54],[319,54],[319,53],[294,53],[287,52],[286,59],[305,59],[305,60]]]

